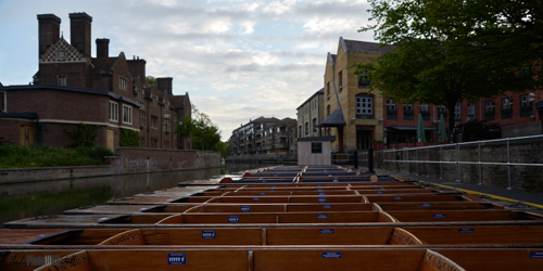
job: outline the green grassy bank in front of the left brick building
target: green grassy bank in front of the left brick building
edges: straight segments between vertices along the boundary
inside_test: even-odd
[[[113,153],[103,146],[63,149],[47,145],[0,145],[0,168],[104,165]]]

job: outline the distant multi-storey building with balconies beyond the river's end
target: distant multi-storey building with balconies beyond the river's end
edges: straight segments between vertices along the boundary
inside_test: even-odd
[[[296,120],[260,117],[232,131],[229,159],[295,159]]]

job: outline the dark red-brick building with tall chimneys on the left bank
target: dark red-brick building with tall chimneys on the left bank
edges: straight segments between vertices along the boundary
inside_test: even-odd
[[[71,42],[60,35],[61,20],[38,15],[39,69],[34,85],[0,86],[0,137],[24,145],[67,146],[64,129],[96,125],[96,144],[114,150],[124,130],[138,131],[141,147],[190,149],[173,129],[190,115],[188,93],[174,95],[173,78],[146,85],[146,61],[109,54],[109,39],[97,39],[91,56],[91,22],[71,13]]]

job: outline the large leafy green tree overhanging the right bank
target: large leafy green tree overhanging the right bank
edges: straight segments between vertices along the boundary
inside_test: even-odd
[[[515,26],[500,24],[503,13],[497,5],[481,18],[488,2],[370,0],[376,24],[361,31],[374,30],[380,43],[394,44],[394,50],[370,63],[357,63],[355,74],[366,73],[370,90],[379,90],[387,98],[445,105],[450,113],[465,99],[475,101],[540,87],[541,81],[534,79],[539,69],[533,65],[538,50],[531,46],[529,52],[519,49],[494,57],[488,53],[491,49],[504,52],[507,44],[518,48],[523,36]],[[509,35],[510,40],[493,49],[492,34]],[[449,127],[453,126],[454,114],[449,114]]]

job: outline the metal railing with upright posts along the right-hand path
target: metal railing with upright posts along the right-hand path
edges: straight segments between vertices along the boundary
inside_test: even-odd
[[[381,150],[375,151],[376,153],[376,162],[375,164],[380,167],[379,169],[386,169],[390,164],[399,165],[406,164],[407,172],[411,172],[411,166],[416,165],[417,170],[416,175],[418,176],[419,165],[426,164],[426,173],[427,177],[430,177],[430,165],[439,164],[440,179],[443,179],[443,166],[444,165],[455,165],[456,170],[456,179],[455,181],[460,182],[460,169],[463,165],[471,165],[478,166],[479,168],[479,185],[482,184],[482,167],[483,166],[504,166],[507,167],[507,190],[512,189],[512,168],[513,167],[543,167],[543,156],[538,156],[535,153],[535,157],[532,157],[531,160],[541,163],[517,163],[512,158],[512,147],[513,146],[525,146],[530,147],[529,144],[541,144],[543,146],[543,134],[541,136],[531,136],[531,137],[520,137],[520,138],[507,138],[507,139],[496,139],[496,140],[485,140],[485,141],[472,141],[472,142],[463,142],[463,143],[454,143],[454,144],[441,144],[441,145],[430,145],[430,146],[419,146],[419,147],[409,147],[409,149],[399,149],[399,150]],[[494,153],[490,150],[494,147],[494,150],[504,149],[505,155],[503,153]],[[443,156],[444,151],[454,150],[454,154],[449,154],[446,157]],[[489,151],[490,150],[490,151]],[[539,152],[543,153],[543,147],[539,150]],[[467,158],[466,155],[460,155],[462,151],[469,152],[467,156],[472,157],[470,159]],[[496,160],[483,160],[483,151],[487,152],[487,156],[494,157]],[[500,150],[498,150],[500,151]],[[523,150],[525,153],[528,150]],[[538,152],[538,149],[531,150],[533,152]],[[413,157],[414,155],[414,157]],[[526,155],[526,154],[525,154]],[[395,159],[391,159],[391,156],[395,157]],[[412,156],[412,157],[409,157]],[[500,162],[500,158],[505,156]],[[358,153],[361,167],[364,167],[365,163],[367,164],[368,157],[366,152]],[[464,159],[463,159],[464,157]],[[425,159],[426,158],[426,159]],[[518,160],[518,159],[517,159]],[[380,166],[379,166],[380,165]],[[366,166],[367,167],[367,166]],[[397,166],[399,167],[399,166]],[[394,166],[396,168],[396,166]],[[400,167],[399,167],[400,168]],[[542,168],[543,170],[543,168]]]

